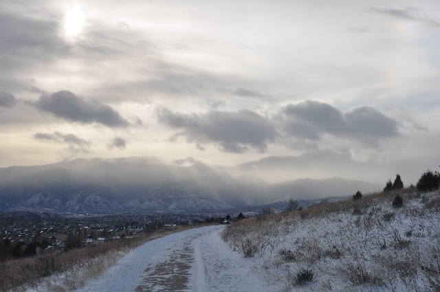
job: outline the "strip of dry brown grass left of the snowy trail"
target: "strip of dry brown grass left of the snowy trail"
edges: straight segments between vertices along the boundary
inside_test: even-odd
[[[63,285],[53,285],[48,282],[45,289],[50,291],[78,289],[86,280],[100,276],[131,249],[149,240],[189,228],[191,227],[140,234],[133,238],[109,240],[98,245],[87,245],[50,255],[0,262],[0,291],[36,289],[48,276],[53,275],[62,276]]]

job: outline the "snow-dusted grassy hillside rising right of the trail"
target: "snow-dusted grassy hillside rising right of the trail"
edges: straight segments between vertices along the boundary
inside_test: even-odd
[[[439,191],[245,219],[221,235],[275,291],[440,291]]]

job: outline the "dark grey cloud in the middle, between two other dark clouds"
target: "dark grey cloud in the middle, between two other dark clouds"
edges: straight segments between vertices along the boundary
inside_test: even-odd
[[[262,115],[252,111],[210,111],[197,115],[173,113],[167,108],[157,111],[160,123],[181,129],[178,136],[188,142],[214,143],[228,153],[244,153],[249,148],[265,152],[267,142],[272,141],[276,131]]]

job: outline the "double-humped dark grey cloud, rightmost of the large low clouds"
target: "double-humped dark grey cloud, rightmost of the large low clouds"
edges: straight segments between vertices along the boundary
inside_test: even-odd
[[[397,123],[371,106],[359,106],[343,113],[329,104],[306,101],[287,104],[278,118],[288,135],[315,141],[325,133],[373,140],[399,135]]]

